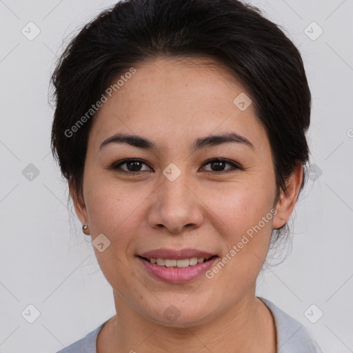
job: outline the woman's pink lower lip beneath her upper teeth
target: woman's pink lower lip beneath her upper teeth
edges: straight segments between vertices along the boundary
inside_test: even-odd
[[[217,258],[214,257],[203,263],[189,266],[188,268],[166,268],[164,266],[156,265],[155,263],[150,263],[150,261],[142,259],[139,256],[138,259],[143,263],[148,272],[153,274],[157,279],[169,283],[186,283],[205,273]]]

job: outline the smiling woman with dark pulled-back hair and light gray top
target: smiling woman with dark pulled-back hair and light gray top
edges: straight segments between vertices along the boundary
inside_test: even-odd
[[[236,0],[122,1],[52,83],[52,151],[117,310],[60,352],[321,352],[255,295],[309,154],[285,34]]]

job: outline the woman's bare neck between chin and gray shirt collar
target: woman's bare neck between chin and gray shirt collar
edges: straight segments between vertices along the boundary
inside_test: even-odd
[[[268,307],[254,295],[223,314],[188,327],[165,326],[147,319],[114,294],[119,313],[103,326],[97,353],[275,353],[276,329]]]

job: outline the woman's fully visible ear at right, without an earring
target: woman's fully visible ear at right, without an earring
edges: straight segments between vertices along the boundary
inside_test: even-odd
[[[289,179],[285,182],[287,192],[281,192],[279,201],[276,204],[277,213],[274,216],[273,228],[281,228],[290,218],[298,199],[301,183],[303,181],[303,165],[297,163]]]

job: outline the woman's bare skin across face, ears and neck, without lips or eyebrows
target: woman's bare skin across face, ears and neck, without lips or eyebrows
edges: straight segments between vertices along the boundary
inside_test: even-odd
[[[276,328],[268,307],[256,299],[255,284],[268,252],[272,228],[288,220],[302,181],[301,164],[288,192],[274,205],[275,175],[270,143],[253,105],[234,99],[245,92],[232,74],[210,59],[159,57],[137,72],[103,104],[90,130],[83,174],[83,199],[70,183],[74,207],[92,241],[110,240],[94,251],[112,285],[119,313],[103,326],[97,352],[276,352]],[[248,94],[249,95],[249,94]],[[200,137],[221,132],[246,137],[191,152]],[[118,132],[152,140],[158,150],[101,143]],[[110,165],[127,158],[145,164]],[[241,166],[207,163],[228,159]],[[163,170],[174,163],[180,176]],[[217,174],[219,170],[225,174]],[[210,174],[207,174],[207,173]],[[130,171],[131,173],[131,171]],[[276,215],[212,279],[204,274],[183,284],[154,279],[136,255],[157,248],[196,248],[221,259],[243,234],[276,208]],[[179,318],[164,311],[174,305]]]

